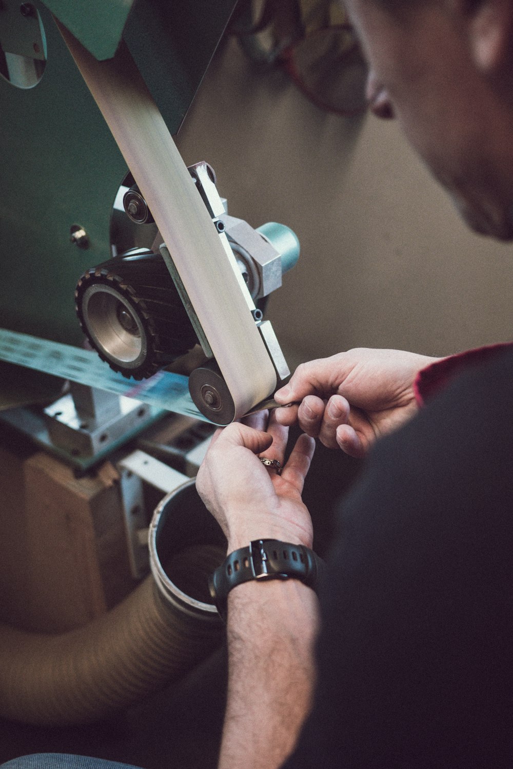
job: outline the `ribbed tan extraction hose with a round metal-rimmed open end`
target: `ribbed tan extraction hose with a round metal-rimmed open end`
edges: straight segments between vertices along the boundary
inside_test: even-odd
[[[108,614],[62,635],[0,626],[2,717],[48,726],[96,721],[214,651],[224,633],[208,575],[225,557],[225,540],[193,484],[168,494],[152,523],[152,569],[171,589],[148,577]]]

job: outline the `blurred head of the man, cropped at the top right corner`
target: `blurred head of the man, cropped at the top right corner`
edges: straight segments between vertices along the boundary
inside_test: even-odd
[[[513,0],[345,0],[395,117],[465,221],[513,238]]]

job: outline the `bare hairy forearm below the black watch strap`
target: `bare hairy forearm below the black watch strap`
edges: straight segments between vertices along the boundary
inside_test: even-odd
[[[315,683],[315,593],[295,579],[228,595],[228,702],[219,769],[275,769],[291,753]]]

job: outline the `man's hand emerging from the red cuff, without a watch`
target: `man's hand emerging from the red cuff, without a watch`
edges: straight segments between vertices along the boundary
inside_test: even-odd
[[[363,457],[373,441],[404,424],[418,410],[413,391],[422,368],[437,361],[399,350],[355,348],[303,363],[275,392],[280,424],[301,430],[328,448]]]

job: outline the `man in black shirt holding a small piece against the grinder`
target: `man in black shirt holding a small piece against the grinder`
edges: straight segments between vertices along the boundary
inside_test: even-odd
[[[375,114],[398,119],[471,228],[511,238],[513,2],[346,5]],[[513,766],[512,378],[504,348],[438,362],[349,351],[299,367],[276,399],[301,405],[267,431],[261,417],[217,434],[198,490],[232,552],[265,538],[311,547],[313,442],[301,436],[278,475],[281,425],[356,456],[390,433],[341,506],[316,665],[310,587],[228,593],[222,769]]]

